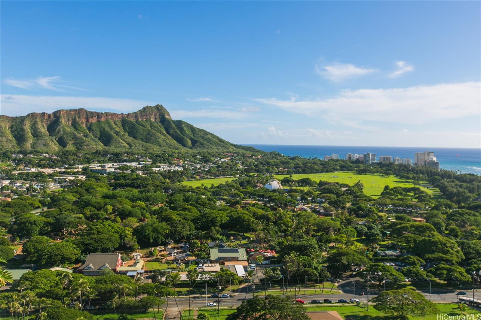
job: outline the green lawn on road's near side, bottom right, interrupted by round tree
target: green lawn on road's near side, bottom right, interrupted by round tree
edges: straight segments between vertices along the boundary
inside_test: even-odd
[[[460,315],[461,312],[457,309],[456,304],[452,303],[439,303],[436,304],[439,308],[439,313],[438,314],[449,314],[449,315]],[[361,306],[353,306],[353,305],[346,305],[346,306],[316,306],[316,307],[310,307],[306,306],[307,311],[337,311],[342,318],[345,319],[345,317],[349,316],[350,319],[354,320],[381,320],[381,319],[386,319],[387,316],[374,309],[371,306],[369,306],[369,311],[367,311],[366,306],[361,307]],[[466,311],[467,314],[481,314],[479,311],[470,309],[468,308]],[[435,320],[437,314],[429,314],[424,317],[409,317],[409,319],[412,320]]]

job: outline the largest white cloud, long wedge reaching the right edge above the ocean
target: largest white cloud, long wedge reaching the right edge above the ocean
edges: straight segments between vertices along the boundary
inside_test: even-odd
[[[311,101],[257,99],[267,105],[332,123],[369,129],[365,122],[425,124],[481,116],[481,83],[466,82],[392,89],[342,90]]]

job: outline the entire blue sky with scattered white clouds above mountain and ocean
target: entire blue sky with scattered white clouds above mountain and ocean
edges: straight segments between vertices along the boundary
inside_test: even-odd
[[[1,114],[162,104],[234,143],[481,147],[479,1],[1,1]]]

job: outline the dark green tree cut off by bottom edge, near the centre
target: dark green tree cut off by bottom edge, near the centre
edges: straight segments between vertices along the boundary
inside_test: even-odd
[[[303,306],[295,306],[291,298],[267,295],[265,299],[255,297],[242,300],[236,312],[228,320],[308,320]]]

